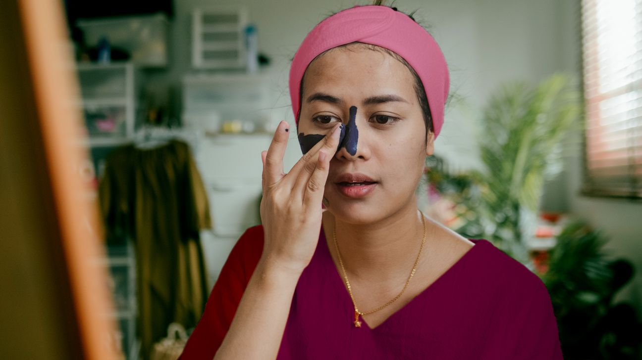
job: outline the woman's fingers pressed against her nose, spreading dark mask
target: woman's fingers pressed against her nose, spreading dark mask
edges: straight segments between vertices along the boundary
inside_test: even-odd
[[[308,186],[308,181],[318,166],[318,154],[323,151],[328,159],[331,159],[336,153],[339,145],[340,126],[335,126],[329,136],[318,142],[310,151],[300,158],[300,160],[290,170],[291,181],[294,181],[292,192],[304,195],[304,190]],[[324,183],[325,184],[325,183]]]

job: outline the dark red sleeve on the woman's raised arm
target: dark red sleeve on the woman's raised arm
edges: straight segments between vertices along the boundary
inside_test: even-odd
[[[189,336],[180,359],[211,360],[230,328],[243,291],[263,253],[263,226],[250,227],[241,235],[221,268],[207,299],[205,311]]]

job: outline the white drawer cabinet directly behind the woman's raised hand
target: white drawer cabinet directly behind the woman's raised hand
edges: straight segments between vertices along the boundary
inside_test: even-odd
[[[281,96],[275,81],[270,72],[189,74],[182,81],[182,123],[207,134],[193,149],[213,221],[213,230],[202,233],[209,286],[241,234],[261,221],[261,151],[270,147],[286,111],[275,107]],[[221,133],[221,124],[230,120],[254,124],[254,133]],[[285,172],[301,157],[295,126],[290,125]]]

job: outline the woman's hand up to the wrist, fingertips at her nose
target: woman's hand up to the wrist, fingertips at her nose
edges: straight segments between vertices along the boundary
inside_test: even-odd
[[[339,124],[283,174],[283,156],[290,134],[281,121],[263,160],[261,221],[265,234],[263,261],[288,272],[308,266],[317,249],[325,180],[339,144]]]

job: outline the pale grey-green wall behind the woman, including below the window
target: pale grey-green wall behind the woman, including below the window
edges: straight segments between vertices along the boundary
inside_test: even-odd
[[[191,10],[220,1],[177,0],[171,35],[171,70],[154,81],[166,83],[180,99],[180,77],[190,71]],[[259,48],[273,61],[275,111],[293,124],[287,88],[290,58],[306,33],[331,12],[367,4],[364,1],[238,1],[247,4],[259,31]],[[419,10],[416,17],[431,25],[451,69],[451,90],[463,97],[451,103],[436,150],[455,168],[478,167],[478,119],[489,94],[505,81],[540,81],[569,70],[580,76],[578,0],[442,0],[396,1],[400,10]],[[611,236],[609,249],[634,262],[638,275],[623,297],[641,304],[642,204],[589,199],[578,194],[581,147],[569,138],[567,166],[546,190],[544,206],[587,218]],[[220,255],[220,254],[219,254]],[[222,258],[219,256],[219,258]],[[214,266],[221,266],[217,263]],[[638,309],[642,313],[642,308]],[[642,315],[642,314],[641,314]]]

